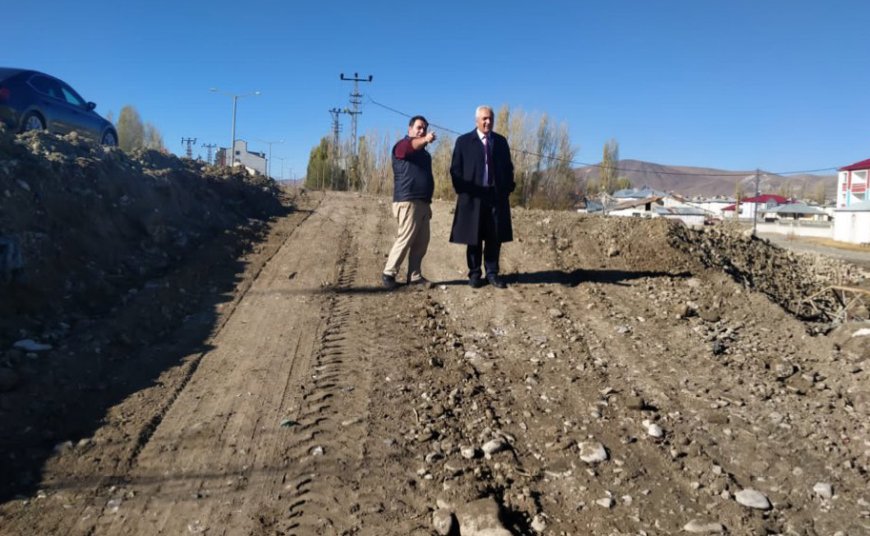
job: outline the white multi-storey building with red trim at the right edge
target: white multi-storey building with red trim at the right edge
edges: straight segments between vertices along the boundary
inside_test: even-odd
[[[870,159],[842,167],[839,171],[834,240],[870,244],[870,199],[867,197]]]

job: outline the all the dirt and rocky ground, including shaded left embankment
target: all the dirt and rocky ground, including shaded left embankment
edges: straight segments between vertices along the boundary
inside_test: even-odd
[[[386,292],[387,199],[45,135],[0,194],[0,534],[870,532],[861,267],[517,210],[475,290],[436,202]]]

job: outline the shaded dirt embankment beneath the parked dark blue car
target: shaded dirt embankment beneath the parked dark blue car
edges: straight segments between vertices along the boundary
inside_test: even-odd
[[[282,211],[263,177],[75,133],[0,132],[0,347],[105,312],[215,236]]]

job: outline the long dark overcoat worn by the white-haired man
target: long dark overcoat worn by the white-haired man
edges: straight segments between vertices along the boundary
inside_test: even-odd
[[[480,243],[480,206],[481,197],[492,198],[493,216],[499,242],[513,240],[511,226],[510,194],[514,184],[514,165],[511,162],[510,147],[507,139],[495,132],[492,139],[492,160],[490,162],[494,187],[483,186],[483,171],[486,166],[483,142],[477,129],[456,138],[453,147],[453,160],[450,162],[450,179],[456,191],[456,210],[453,213],[453,228],[450,241],[454,244]]]

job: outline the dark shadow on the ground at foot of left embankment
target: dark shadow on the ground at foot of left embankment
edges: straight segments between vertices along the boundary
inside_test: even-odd
[[[272,221],[292,212],[282,210]],[[161,386],[166,371],[183,365],[170,375],[175,391],[183,387],[211,348],[206,341],[219,328],[219,305],[232,301],[242,282],[246,266],[239,259],[268,231],[267,221],[249,220],[218,233],[171,270],[143,276],[132,298],[118,295],[89,308],[51,352],[7,358],[20,383],[0,393],[0,502],[32,496],[58,449],[92,438],[111,408]],[[174,398],[172,389],[166,397]],[[147,415],[131,416],[141,421],[125,423],[138,435],[112,438],[123,456],[102,462],[107,479],[133,462],[171,405],[166,397]]]

